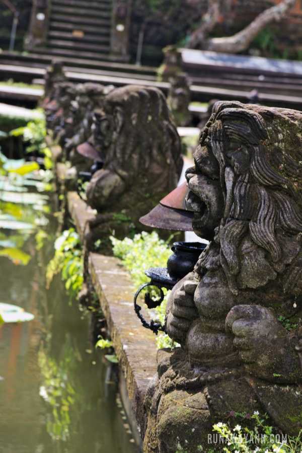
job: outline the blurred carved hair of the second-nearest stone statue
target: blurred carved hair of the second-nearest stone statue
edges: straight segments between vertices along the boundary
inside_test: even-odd
[[[163,169],[168,165],[169,173],[160,178],[167,178],[169,188],[175,187],[175,175],[180,176],[183,165],[182,145],[163,93],[157,88],[126,86],[106,97],[103,110],[115,123],[104,168],[117,173],[123,169],[135,178],[149,171],[150,162]]]

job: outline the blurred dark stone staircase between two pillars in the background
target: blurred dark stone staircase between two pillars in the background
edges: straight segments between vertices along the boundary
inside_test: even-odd
[[[46,48],[35,52],[62,57],[108,59],[111,0],[52,0]]]

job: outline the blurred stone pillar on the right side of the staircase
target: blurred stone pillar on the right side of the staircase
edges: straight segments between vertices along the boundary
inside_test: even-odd
[[[113,0],[110,52],[129,60],[129,30],[132,0]]]

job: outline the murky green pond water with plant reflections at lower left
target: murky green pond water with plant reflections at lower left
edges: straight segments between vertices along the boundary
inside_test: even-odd
[[[0,452],[133,453],[114,376],[105,384],[102,353],[88,342],[89,313],[68,305],[59,276],[45,289],[53,234],[40,251],[25,239],[27,265],[0,256],[0,301],[35,315],[0,328]]]

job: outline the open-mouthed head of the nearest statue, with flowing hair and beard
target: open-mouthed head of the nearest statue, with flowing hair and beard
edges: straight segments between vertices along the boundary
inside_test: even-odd
[[[219,245],[220,263],[234,294],[276,279],[300,250],[302,215],[293,189],[298,179],[292,177],[293,167],[299,172],[294,161],[298,144],[288,142],[284,150],[276,112],[260,108],[262,116],[256,109],[216,103],[201,132],[195,166],[186,172],[193,230]],[[297,140],[301,126],[292,127],[296,130],[291,140]],[[298,289],[292,286],[292,291]]]

